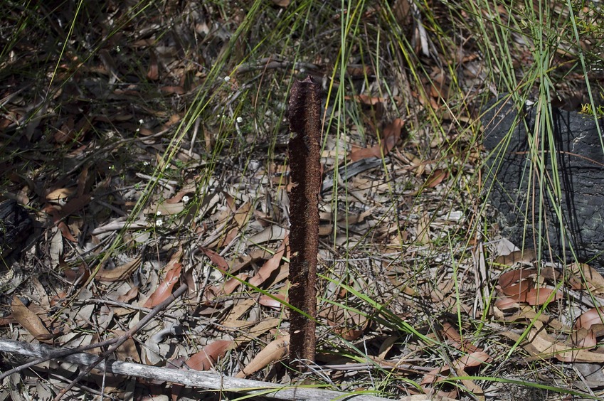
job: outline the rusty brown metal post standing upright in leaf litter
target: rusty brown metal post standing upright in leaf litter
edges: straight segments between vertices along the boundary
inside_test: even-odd
[[[314,361],[317,316],[317,252],[321,190],[321,88],[309,76],[290,92],[290,365]]]

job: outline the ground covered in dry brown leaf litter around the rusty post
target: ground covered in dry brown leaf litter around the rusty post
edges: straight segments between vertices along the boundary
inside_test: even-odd
[[[214,4],[138,14],[90,5],[80,14],[89,23],[75,21],[67,42],[74,9],[28,10],[38,25],[2,59],[0,164],[5,196],[28,205],[36,232],[11,266],[3,337],[63,348],[105,341],[187,284],[112,358],[302,383],[281,362],[292,185],[285,104],[288,82],[310,73],[324,87],[326,120],[319,341],[303,383],[391,398],[536,399],[597,388],[604,280],[588,267],[561,275],[492,241],[497,230],[484,225],[478,195],[477,115],[452,113],[459,94],[439,67],[450,55],[418,56],[424,75],[410,80],[401,55],[374,33],[408,17],[366,5],[361,23],[373,34],[346,48],[349,65],[332,75],[345,15],[330,4],[313,9],[317,31],[304,41],[279,31],[292,6],[268,3],[228,14]],[[17,9],[7,13],[4,30],[18,21]],[[267,43],[261,26],[287,46]],[[233,39],[242,27],[247,36]],[[408,34],[420,55],[423,33]],[[361,53],[372,46],[387,54],[380,63]],[[457,90],[472,102],[487,85],[475,54],[457,72]],[[339,100],[327,100],[332,92]],[[3,370],[19,363],[7,356]],[[77,365],[46,362],[4,378],[3,394],[54,397],[77,374]],[[101,392],[201,394],[97,372],[66,396]]]

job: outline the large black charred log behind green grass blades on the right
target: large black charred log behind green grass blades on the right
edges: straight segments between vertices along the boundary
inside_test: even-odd
[[[483,144],[489,151],[485,188],[492,186],[488,201],[498,213],[502,235],[516,246],[531,249],[537,249],[536,242],[541,240],[541,249],[551,249],[555,258],[567,262],[574,260],[572,245],[579,262],[589,262],[604,271],[604,151],[593,117],[552,107],[556,151],[548,151],[545,132],[539,138],[546,150],[541,153],[544,182],[551,183],[555,160],[561,197],[552,197],[544,190],[541,215],[546,223],[539,224],[539,188],[546,186],[540,183],[539,173],[531,175],[527,134],[534,132],[536,107],[519,109],[512,101],[492,100],[484,110]],[[598,121],[604,129],[604,121]],[[561,220],[553,208],[555,204],[561,206]],[[566,236],[562,235],[562,225]]]

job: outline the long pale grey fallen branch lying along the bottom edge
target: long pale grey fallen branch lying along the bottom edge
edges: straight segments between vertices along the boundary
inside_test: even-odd
[[[72,353],[65,355],[65,351],[42,344],[24,343],[21,341],[0,338],[0,352],[36,358],[36,360],[58,359],[61,361],[90,366],[97,360],[97,355],[89,353]],[[63,356],[54,358],[53,355]],[[98,365],[95,370],[113,373],[115,375],[160,380],[170,383],[200,387],[208,390],[243,392],[245,394],[263,395],[277,400],[354,400],[354,401],[386,401],[386,398],[372,395],[354,395],[345,392],[321,390],[312,387],[280,386],[258,380],[231,378],[224,375],[196,370],[175,370],[173,368],[158,368],[156,366],[142,365],[139,363],[120,362],[108,360],[107,363]]]

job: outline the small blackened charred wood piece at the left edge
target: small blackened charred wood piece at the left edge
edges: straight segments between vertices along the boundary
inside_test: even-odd
[[[0,203],[0,254],[3,261],[23,250],[33,232],[33,221],[27,210],[15,201]]]

